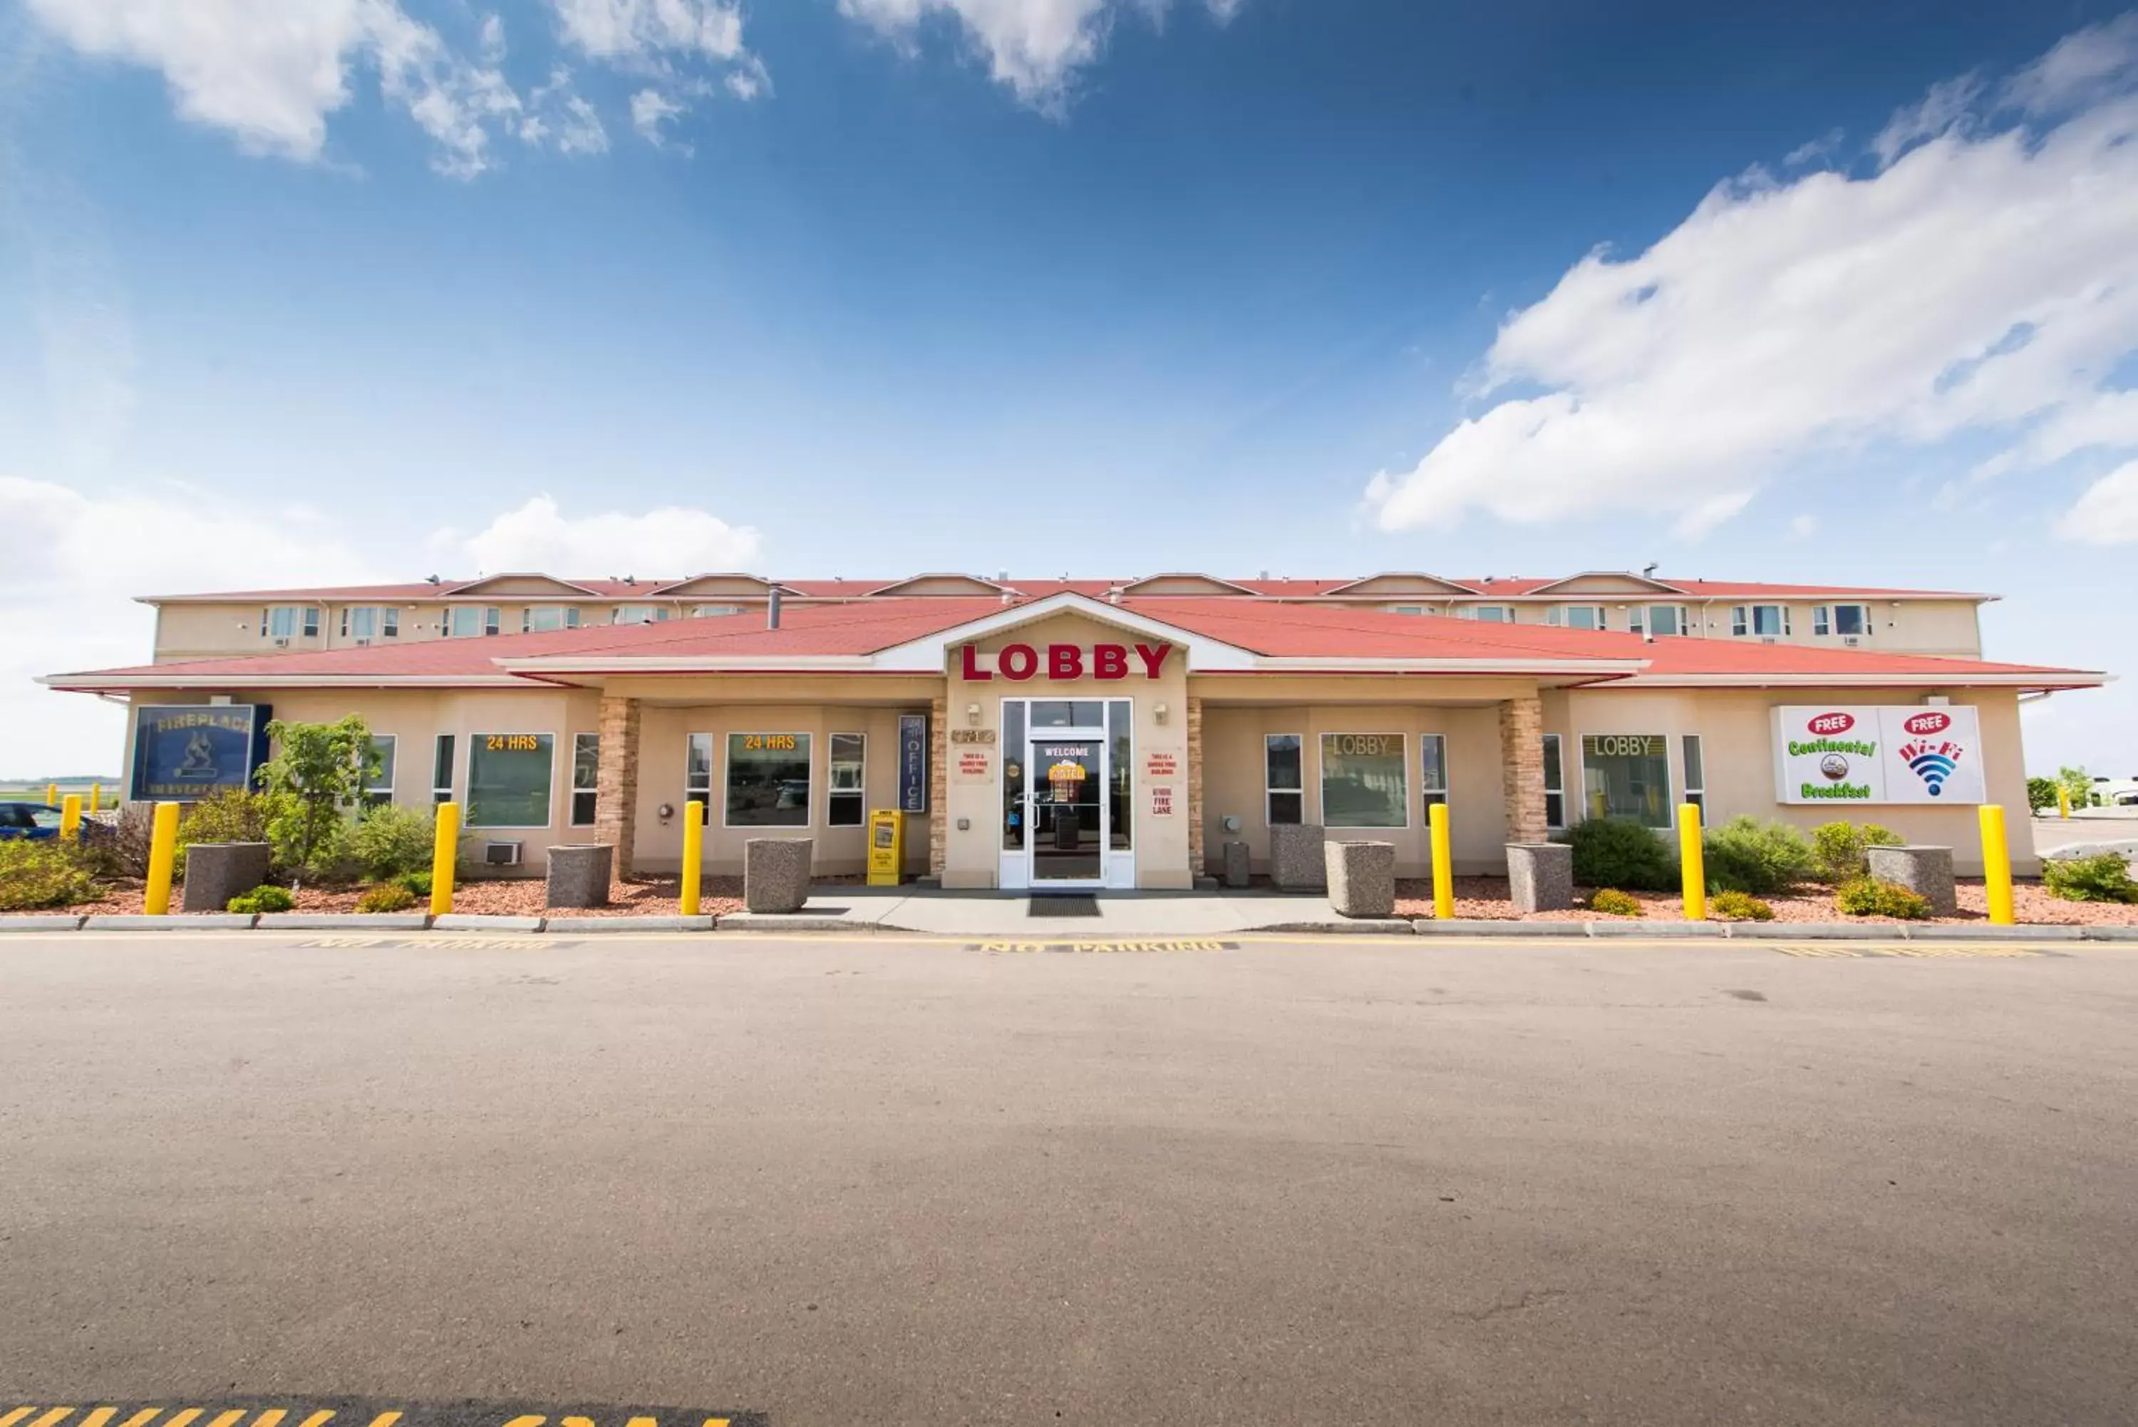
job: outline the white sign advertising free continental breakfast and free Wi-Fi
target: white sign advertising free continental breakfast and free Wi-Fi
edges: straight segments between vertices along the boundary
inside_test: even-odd
[[[1973,708],[1775,710],[1777,802],[1988,802]]]

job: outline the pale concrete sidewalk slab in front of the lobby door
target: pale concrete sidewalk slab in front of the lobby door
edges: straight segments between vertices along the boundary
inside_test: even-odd
[[[934,937],[1219,937],[1240,931],[1398,931],[1336,916],[1328,896],[1283,892],[915,892],[823,888],[795,914],[729,914],[723,931],[917,931]]]

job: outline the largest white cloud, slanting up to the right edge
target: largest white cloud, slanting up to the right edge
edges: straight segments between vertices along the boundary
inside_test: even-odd
[[[1700,533],[1817,449],[1971,432],[2012,466],[2080,430],[2123,443],[2129,398],[2106,383],[2138,351],[2138,73],[2117,26],[2059,49],[2050,79],[2044,60],[1961,86],[1990,113],[2087,96],[2052,124],[1997,128],[1941,86],[1869,175],[1755,171],[1646,252],[1584,257],[1475,379],[1541,392],[1377,475],[1381,528],[1638,509]],[[2102,53],[2125,56],[2114,83]]]

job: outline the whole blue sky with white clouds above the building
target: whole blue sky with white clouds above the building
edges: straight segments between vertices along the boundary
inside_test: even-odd
[[[2138,668],[2134,92],[2091,4],[0,0],[0,772],[115,762],[26,680],[126,595],[513,565],[1659,561]]]

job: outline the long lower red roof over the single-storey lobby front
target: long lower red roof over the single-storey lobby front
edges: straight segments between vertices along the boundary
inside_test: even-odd
[[[1003,603],[973,597],[879,599],[859,605],[793,605],[778,629],[765,627],[761,612],[723,618],[665,620],[656,625],[603,625],[475,640],[421,640],[336,648],[316,653],[252,655],[239,659],[197,659],[152,663],[83,674],[56,674],[47,682],[62,689],[124,687],[274,687],[286,682],[509,682],[515,678],[571,678],[601,672],[652,672],[663,663],[688,670],[721,661],[768,672],[806,670],[808,661],[859,661],[917,640],[945,635],[964,625],[996,620],[1016,610],[1054,601],[1018,599]],[[1420,618],[1360,605],[1274,603],[1259,599],[1122,599],[1118,605],[1071,601],[1095,618],[1120,612],[1159,627],[1199,635],[1257,659],[1319,661],[1398,670],[1403,663],[1445,668],[1458,663],[1475,672],[1533,670],[1556,665],[1571,676],[1642,682],[1730,682],[1757,687],[1762,680],[1935,680],[1946,685],[1993,682],[2025,687],[2082,687],[2100,674],[2023,663],[1986,663],[1931,655],[1890,655],[1866,648],[1811,648],[1796,644],[1753,644],[1723,638],[1642,640],[1631,633],[1556,629],[1550,625],[1490,625],[1462,618]],[[509,668],[507,668],[509,665]],[[1582,665],[1593,665],[1584,670]],[[866,665],[864,665],[866,668]],[[911,668],[911,665],[902,665]],[[1296,665],[1293,665],[1296,668]]]

